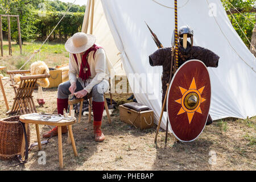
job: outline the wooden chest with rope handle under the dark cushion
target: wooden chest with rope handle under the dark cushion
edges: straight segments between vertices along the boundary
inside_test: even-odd
[[[154,126],[154,111],[152,110],[136,111],[120,105],[119,115],[121,121],[140,129],[148,129]]]

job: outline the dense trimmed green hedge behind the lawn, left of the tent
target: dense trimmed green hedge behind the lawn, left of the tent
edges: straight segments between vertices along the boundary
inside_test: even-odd
[[[39,11],[33,11],[32,13],[23,16],[23,19],[20,20],[22,42],[36,39],[45,40],[63,15],[63,12],[53,11],[46,13],[46,16],[40,16]],[[14,20],[14,18],[11,19]],[[56,27],[49,38],[49,41],[58,40],[59,42],[62,42],[67,40],[76,32],[81,31],[83,20],[84,13],[67,13]],[[7,38],[6,19],[3,19],[3,35]],[[11,38],[17,43],[19,42],[16,21],[11,21]]]

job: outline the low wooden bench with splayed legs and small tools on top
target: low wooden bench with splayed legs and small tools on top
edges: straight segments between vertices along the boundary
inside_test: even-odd
[[[74,152],[74,155],[77,156],[76,144],[75,144],[75,140],[74,140],[73,132],[72,132],[72,127],[71,127],[74,123],[76,123],[76,118],[72,118],[71,120],[61,119],[58,122],[38,121],[38,120],[25,119],[29,115],[32,115],[32,114],[20,115],[19,119],[20,119],[21,122],[25,123],[26,131],[27,131],[28,124],[35,124],[35,126],[36,126],[36,137],[38,139],[38,150],[39,151],[42,150],[40,132],[39,132],[39,125],[57,126],[58,127],[58,143],[59,143],[59,163],[60,163],[60,168],[63,168],[61,126],[68,126],[68,133],[69,133],[69,136],[71,138],[73,152]],[[24,138],[24,135],[23,135],[22,149],[21,149],[22,150],[21,151],[22,155],[24,155],[24,148],[25,148],[25,138]]]

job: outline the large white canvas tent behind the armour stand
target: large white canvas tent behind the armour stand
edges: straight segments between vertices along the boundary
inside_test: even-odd
[[[208,69],[212,118],[245,119],[256,115],[256,59],[234,30],[221,1],[177,3],[178,27],[189,24],[194,30],[195,46],[208,48],[220,56],[218,68]],[[154,110],[155,122],[162,106],[162,67],[151,67],[148,63],[148,55],[157,48],[144,21],[163,46],[170,47],[173,7],[172,0],[88,0],[82,27],[82,31],[97,36],[97,43],[105,48],[117,75],[127,76],[137,101]],[[165,125],[166,115],[161,127]]]

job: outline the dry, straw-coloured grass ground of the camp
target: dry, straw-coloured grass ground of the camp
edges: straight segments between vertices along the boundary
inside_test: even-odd
[[[25,59],[28,49],[34,49],[34,44],[23,46],[24,55],[18,53],[13,57],[1,60],[1,64],[10,69],[15,65],[6,63],[16,59]],[[36,44],[39,46],[39,44]],[[48,53],[42,52],[42,60],[54,65],[57,61],[64,63],[67,60],[63,46],[56,44],[49,46]],[[51,47],[53,46],[53,47]],[[57,50],[62,53],[54,53]],[[28,48],[28,49],[26,49]],[[5,51],[6,52],[6,51]],[[44,54],[44,55],[43,55]],[[59,58],[52,58],[59,56]],[[60,59],[63,57],[63,59]],[[56,59],[56,63],[51,60]],[[58,63],[58,64],[59,64]],[[6,80],[3,80],[5,84]],[[14,97],[13,89],[7,84],[5,91],[11,106]],[[34,92],[36,98],[37,90]],[[38,111],[56,113],[57,89],[44,90],[46,105]],[[129,94],[115,94],[115,100],[129,97]],[[0,96],[0,117],[5,118],[6,107]],[[176,143],[172,134],[169,134],[167,148],[164,148],[165,132],[158,135],[158,147],[154,144],[156,127],[148,130],[138,130],[119,120],[119,111],[114,110],[112,124],[104,118],[102,130],[105,141],[96,143],[93,139],[92,123],[87,117],[82,117],[82,123],[73,126],[78,157],[73,155],[71,145],[67,144],[67,134],[63,135],[64,170],[255,170],[256,169],[256,117],[249,119],[226,118],[214,121],[206,126],[203,133],[194,142]],[[48,131],[47,126],[40,126],[41,136]],[[35,126],[31,125],[31,142],[36,142]],[[57,138],[51,139],[47,146],[46,164],[38,163],[38,150],[33,148],[29,154],[28,163],[24,167],[12,167],[17,162],[0,160],[0,170],[60,170],[59,155],[57,152]]]

